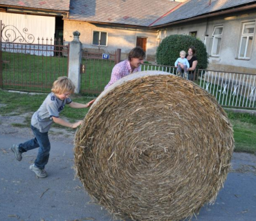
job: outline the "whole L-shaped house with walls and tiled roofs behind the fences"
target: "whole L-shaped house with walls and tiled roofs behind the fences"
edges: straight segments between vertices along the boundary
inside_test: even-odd
[[[58,26],[65,41],[72,41],[78,30],[84,50],[111,53],[121,48],[121,59],[141,46],[146,59],[155,61],[163,38],[192,35],[205,43],[208,69],[256,74],[255,8],[255,0],[1,0],[0,15],[19,13],[42,21],[55,17],[44,28],[40,23],[42,34],[55,22],[55,37]],[[33,26],[39,27],[37,22]]]

